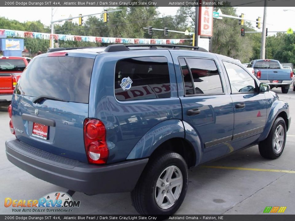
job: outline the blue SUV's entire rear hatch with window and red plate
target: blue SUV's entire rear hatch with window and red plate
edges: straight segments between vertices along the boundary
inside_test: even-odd
[[[93,63],[94,57],[63,52],[29,63],[12,99],[13,126],[21,142],[87,162],[83,122],[88,117]]]

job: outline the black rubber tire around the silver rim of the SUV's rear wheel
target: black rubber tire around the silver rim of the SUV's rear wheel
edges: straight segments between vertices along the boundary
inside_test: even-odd
[[[160,175],[164,173],[166,168],[177,168],[180,170],[182,175],[182,187],[178,187],[178,194],[179,197],[176,199],[174,204],[170,205],[169,208],[161,208],[158,206],[156,202],[156,196],[157,194],[162,194],[162,191],[159,191],[159,187],[156,186],[156,183],[158,179],[160,179]],[[168,171],[168,170],[167,170]],[[175,170],[173,170],[173,174],[175,173]],[[177,171],[177,170],[176,170]],[[165,173],[164,173],[165,174]],[[168,174],[168,172],[167,172]],[[165,177],[165,176],[164,176]],[[163,177],[163,179],[165,179]],[[171,180],[173,180],[171,176]],[[170,180],[170,181],[171,181]],[[160,181],[161,182],[161,181]],[[163,183],[164,184],[164,183]],[[170,183],[171,185],[171,183]],[[144,172],[141,174],[140,179],[138,180],[136,187],[131,192],[131,199],[132,204],[135,207],[136,211],[139,214],[142,215],[149,215],[149,214],[161,214],[161,215],[171,215],[174,214],[179,207],[181,206],[184,197],[187,193],[187,185],[188,185],[188,169],[187,169],[187,163],[183,159],[183,157],[175,152],[166,152],[163,154],[159,154],[158,156],[150,159],[148,162],[148,165],[145,167]],[[169,190],[169,180],[166,184],[162,186],[165,190],[163,190],[165,193],[165,196],[163,197],[162,203],[167,200],[167,203],[169,204],[168,198],[166,197],[166,194],[168,194]],[[172,195],[176,194],[176,189],[171,189]],[[170,192],[170,193],[171,193]],[[169,193],[169,194],[170,194]],[[160,196],[160,195],[158,195]],[[162,217],[164,218],[164,217]]]

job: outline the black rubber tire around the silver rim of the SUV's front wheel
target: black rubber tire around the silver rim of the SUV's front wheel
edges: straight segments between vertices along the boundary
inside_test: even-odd
[[[284,140],[282,141],[281,148],[278,150],[273,140],[276,139],[276,130],[280,125],[282,126],[282,130],[284,131],[284,135],[283,135]],[[281,117],[278,117],[274,121],[273,126],[271,127],[271,130],[269,131],[267,138],[264,141],[260,142],[258,145],[260,155],[266,159],[276,159],[279,156],[281,156],[285,148],[286,134],[287,134],[287,129],[286,129],[285,120]]]

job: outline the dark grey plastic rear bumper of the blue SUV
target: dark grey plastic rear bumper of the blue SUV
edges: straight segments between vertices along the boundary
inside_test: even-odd
[[[148,159],[92,165],[36,149],[17,139],[5,142],[7,159],[49,183],[87,194],[130,192]]]

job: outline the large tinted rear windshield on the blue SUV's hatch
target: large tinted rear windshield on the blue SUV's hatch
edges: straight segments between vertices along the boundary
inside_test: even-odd
[[[15,93],[88,103],[93,63],[91,58],[68,56],[33,59],[22,73]]]

